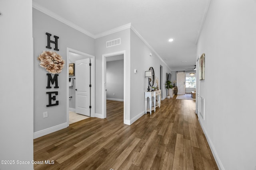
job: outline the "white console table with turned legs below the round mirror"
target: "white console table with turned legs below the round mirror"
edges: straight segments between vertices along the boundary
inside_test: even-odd
[[[149,98],[149,108],[147,108],[148,106],[148,100],[147,98]],[[154,106],[152,106],[152,98],[154,101]],[[158,104],[156,105],[156,99],[158,99]],[[156,107],[161,105],[161,90],[156,90],[153,92],[145,92],[145,113],[147,114],[147,112],[150,112],[150,115],[152,113],[152,110],[154,110],[154,112],[156,112]]]

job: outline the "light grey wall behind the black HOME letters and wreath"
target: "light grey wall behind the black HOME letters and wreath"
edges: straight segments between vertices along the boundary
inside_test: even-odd
[[[65,66],[58,76],[59,88],[46,89],[48,73],[44,68],[39,66],[40,61],[37,57],[42,51],[54,51],[47,49],[47,35],[51,33],[51,39],[54,35],[58,36],[58,49],[55,51],[65,60]],[[33,8],[33,37],[34,37],[34,132],[39,134],[42,130],[54,126],[64,126],[67,123],[67,47],[75,49],[90,55],[94,55],[94,39],[84,35],[68,25],[55,20],[54,18]],[[53,76],[53,74],[52,74]],[[48,104],[48,95],[46,92],[58,91],[56,100],[59,101],[58,106],[46,107]],[[55,102],[54,102],[55,103]],[[43,112],[48,111],[48,117],[43,118]],[[68,124],[68,123],[67,123]],[[59,130],[59,129],[57,129]],[[38,135],[37,135],[38,136]],[[39,135],[40,136],[40,135]]]

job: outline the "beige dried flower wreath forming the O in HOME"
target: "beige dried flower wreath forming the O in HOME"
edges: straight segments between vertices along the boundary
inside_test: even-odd
[[[62,57],[54,51],[43,51],[38,60],[41,61],[39,64],[41,67],[53,74],[60,73],[65,63]]]

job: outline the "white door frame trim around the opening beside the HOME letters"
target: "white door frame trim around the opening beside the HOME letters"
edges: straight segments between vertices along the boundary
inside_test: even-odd
[[[75,53],[75,54],[78,54],[78,55],[82,55],[82,56],[84,56],[84,59],[90,58],[90,61],[92,63],[92,66],[91,66],[91,85],[92,85],[92,87],[91,87],[91,93],[90,93],[91,106],[92,106],[92,108],[91,108],[91,117],[95,117],[95,56],[67,47],[67,61],[66,61],[66,69],[67,69],[66,70],[66,75],[67,75],[67,77],[66,77],[66,82],[67,82],[67,84],[66,84],[66,98],[67,98],[66,104],[67,104],[67,107],[66,107],[66,113],[67,113],[67,124],[68,125],[69,125],[68,60],[70,58],[70,53]]]

